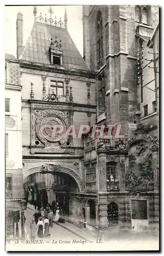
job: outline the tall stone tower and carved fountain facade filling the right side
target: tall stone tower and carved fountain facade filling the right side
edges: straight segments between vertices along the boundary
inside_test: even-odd
[[[153,56],[147,45],[157,23],[158,6],[83,7],[84,59],[97,72],[96,121],[121,124],[124,135],[119,141],[88,138],[84,147],[85,166],[92,163],[88,154],[96,156],[100,230],[112,230],[114,225],[131,231],[158,229],[155,211],[159,205],[154,199],[159,193],[155,189],[158,164],[153,167],[153,161],[148,160],[155,156],[158,161],[158,116],[152,110],[158,77],[153,80],[153,69],[145,68],[146,58]],[[146,116],[145,104],[149,105]],[[88,183],[86,187],[89,188]],[[133,214],[136,205],[140,209],[145,207],[145,216],[143,212],[139,216]]]

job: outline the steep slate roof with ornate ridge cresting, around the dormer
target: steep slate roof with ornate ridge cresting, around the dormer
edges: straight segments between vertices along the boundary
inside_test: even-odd
[[[66,29],[39,22],[34,23],[27,44],[19,59],[50,65],[49,48],[51,38],[55,40],[55,36],[57,36],[58,41],[61,40],[63,49],[63,66],[89,71],[84,59]]]

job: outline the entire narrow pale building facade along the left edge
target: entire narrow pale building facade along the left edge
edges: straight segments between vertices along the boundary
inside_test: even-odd
[[[6,239],[21,238],[21,86],[19,62],[5,56]]]

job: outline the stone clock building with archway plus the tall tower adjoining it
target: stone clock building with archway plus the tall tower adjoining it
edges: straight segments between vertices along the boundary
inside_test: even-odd
[[[66,12],[33,13],[25,47],[21,13],[16,29],[26,199],[58,202],[92,233],[158,229],[158,7],[83,6],[83,58]],[[52,132],[115,123],[124,139]]]

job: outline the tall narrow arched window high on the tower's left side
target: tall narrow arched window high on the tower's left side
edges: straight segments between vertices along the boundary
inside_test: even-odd
[[[102,66],[103,58],[103,21],[102,13],[98,11],[96,19],[96,37],[97,37],[97,66],[98,69]]]

